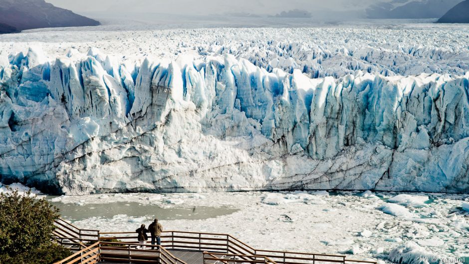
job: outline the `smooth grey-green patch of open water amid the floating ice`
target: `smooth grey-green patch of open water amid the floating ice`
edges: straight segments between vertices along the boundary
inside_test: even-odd
[[[54,197],[48,197],[51,199]],[[156,216],[160,220],[204,220],[217,216],[229,215],[238,211],[229,207],[194,207],[188,208],[162,208],[156,205],[142,205],[135,202],[115,202],[104,204],[64,204],[51,202],[60,209],[62,218],[72,222],[91,217],[112,218],[115,215],[130,217]]]

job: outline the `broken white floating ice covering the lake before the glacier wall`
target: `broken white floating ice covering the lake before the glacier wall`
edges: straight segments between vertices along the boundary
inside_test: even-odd
[[[61,196],[53,201],[72,207],[77,202],[83,207],[96,203],[136,202],[168,209],[195,208],[195,212],[203,206],[228,206],[239,211],[205,220],[188,220],[181,216],[179,220],[161,219],[161,222],[167,230],[229,233],[258,249],[346,254],[350,259],[371,258],[381,263],[402,264],[439,263],[432,258],[468,257],[469,213],[462,208],[464,201],[469,201],[468,195],[413,193],[406,196],[407,200],[414,198],[416,201],[427,197],[425,206],[393,204],[407,210],[412,218],[382,212],[379,208],[391,204],[389,200],[402,197],[399,193],[379,192],[367,197],[359,192],[339,192],[338,195],[314,192],[105,194]],[[168,200],[181,203],[171,204]],[[276,201],[276,205],[272,201]],[[132,232],[140,224],[150,223],[154,214],[97,216],[74,224],[96,227],[103,232]],[[239,223],[249,225],[239,226]]]

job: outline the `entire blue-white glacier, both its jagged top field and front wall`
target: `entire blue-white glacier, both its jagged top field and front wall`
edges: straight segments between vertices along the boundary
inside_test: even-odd
[[[402,25],[2,35],[1,179],[69,195],[467,193],[467,32]]]

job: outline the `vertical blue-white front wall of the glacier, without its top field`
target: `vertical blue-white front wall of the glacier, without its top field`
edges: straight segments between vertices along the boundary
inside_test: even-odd
[[[0,57],[0,180],[49,192],[469,187],[469,74],[310,79],[233,55]]]

